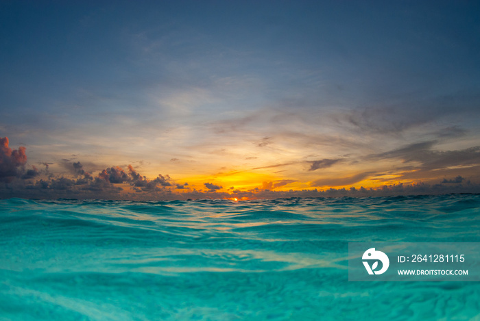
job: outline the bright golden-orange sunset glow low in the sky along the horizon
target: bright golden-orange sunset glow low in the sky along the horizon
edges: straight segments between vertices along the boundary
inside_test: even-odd
[[[256,194],[262,197],[263,192],[289,192],[289,191],[307,191],[317,190],[325,192],[333,190],[381,190],[385,186],[394,185],[417,185],[419,183],[437,183],[440,180],[438,175],[431,177],[415,177],[418,170],[405,170],[401,172],[393,172],[393,170],[385,170],[383,173],[375,175],[375,172],[363,169],[359,171],[350,171],[353,168],[344,168],[344,171],[337,169],[335,172],[309,172],[301,170],[299,172],[291,172],[280,170],[269,173],[263,169],[257,170],[225,170],[224,172],[216,172],[211,175],[197,175],[172,177],[169,180],[171,185],[163,186],[163,192],[170,194],[182,195],[187,197],[195,197],[195,193],[205,193],[208,197],[219,197],[228,199],[235,203],[245,201],[247,199],[255,199]],[[126,171],[125,168],[123,170]],[[138,169],[142,172],[141,168]],[[285,177],[280,174],[287,174]],[[296,173],[298,175],[296,175]],[[278,174],[278,176],[276,175]],[[445,175],[442,173],[442,175]],[[94,176],[97,177],[97,175]],[[75,177],[72,177],[75,179]],[[311,180],[307,180],[311,179]],[[357,181],[357,179],[360,179]],[[443,179],[443,178],[442,178]],[[152,179],[148,179],[152,181]],[[325,183],[325,185],[320,185]],[[134,197],[141,194],[139,192],[157,193],[160,190],[149,190],[145,188],[134,187],[132,182],[116,183],[121,188],[119,194],[125,197]],[[178,187],[180,186],[180,187]],[[241,197],[242,192],[248,192],[249,197]],[[193,193],[191,195],[187,195]],[[161,193],[160,193],[161,194]],[[200,194],[198,194],[200,195]]]

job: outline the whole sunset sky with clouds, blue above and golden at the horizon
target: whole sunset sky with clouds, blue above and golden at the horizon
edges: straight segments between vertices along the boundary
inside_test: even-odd
[[[0,197],[480,192],[477,1],[0,1]]]

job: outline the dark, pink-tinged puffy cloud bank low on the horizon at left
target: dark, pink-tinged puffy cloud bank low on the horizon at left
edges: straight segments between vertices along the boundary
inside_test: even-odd
[[[84,169],[80,162],[71,163],[69,159],[62,159],[60,165],[68,169],[73,178],[58,177],[48,172],[48,164],[45,165],[45,171],[38,170],[35,166],[32,169],[25,170],[27,157],[25,148],[21,147],[18,151],[12,151],[8,147],[8,138],[1,139],[1,179],[0,197],[25,196],[38,198],[121,198],[128,194],[128,188],[125,184],[130,184],[133,190],[152,193],[167,193],[169,188],[175,182],[169,175],[158,175],[156,179],[148,180],[140,175],[129,165],[128,172],[125,172],[120,166],[112,166],[101,170],[97,177],[93,177]],[[48,174],[37,181],[28,183],[27,180],[34,179],[40,175]],[[123,187],[122,185],[123,184]],[[182,186],[188,185],[187,183]]]

